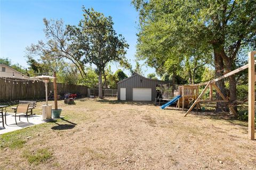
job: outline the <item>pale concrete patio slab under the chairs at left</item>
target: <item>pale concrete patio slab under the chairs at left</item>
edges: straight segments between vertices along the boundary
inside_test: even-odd
[[[15,117],[13,115],[7,114],[6,115],[7,125],[4,124],[4,128],[3,128],[2,122],[0,123],[0,134],[27,128],[29,126],[33,126],[36,124],[45,123],[44,121],[42,121],[42,115],[29,115],[28,117],[29,123],[25,116],[21,116],[20,121],[18,116],[16,118],[17,118],[17,125],[15,124]],[[0,118],[0,121],[2,121],[2,118]]]

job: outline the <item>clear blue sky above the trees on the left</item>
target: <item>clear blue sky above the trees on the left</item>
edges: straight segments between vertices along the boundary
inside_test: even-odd
[[[0,0],[0,57],[8,57],[13,63],[27,67],[25,48],[44,39],[43,18],[62,19],[65,24],[75,25],[83,17],[82,5],[112,16],[114,29],[121,33],[130,48],[126,57],[135,66],[138,32],[138,12],[131,1],[1,1]],[[142,62],[141,62],[142,63]],[[111,69],[116,71],[115,64]],[[145,75],[155,72],[144,67]],[[125,71],[129,74],[129,71]]]

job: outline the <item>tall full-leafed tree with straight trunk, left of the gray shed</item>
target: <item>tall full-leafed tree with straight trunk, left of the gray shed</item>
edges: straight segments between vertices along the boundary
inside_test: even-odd
[[[70,41],[85,56],[83,62],[97,66],[99,98],[102,98],[102,73],[111,61],[123,61],[129,47],[122,35],[117,35],[111,16],[83,6],[84,19],[78,25],[67,25]]]

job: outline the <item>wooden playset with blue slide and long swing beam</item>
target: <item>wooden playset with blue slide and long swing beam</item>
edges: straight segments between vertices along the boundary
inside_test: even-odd
[[[185,117],[191,112],[191,110],[196,106],[196,109],[201,108],[201,102],[218,102],[218,103],[228,103],[229,110],[233,112],[235,116],[237,116],[237,113],[234,109],[234,104],[230,103],[228,98],[225,97],[225,95],[222,94],[221,90],[218,88],[218,86],[215,84],[215,82],[220,81],[222,79],[230,77],[230,75],[234,75],[242,70],[248,69],[249,72],[249,90],[248,90],[248,136],[249,139],[254,140],[255,135],[255,80],[256,80],[256,72],[255,72],[255,55],[256,51],[249,52],[249,62],[248,64],[239,67],[236,70],[233,70],[225,75],[222,75],[219,78],[213,79],[208,82],[204,83],[198,83],[198,84],[191,84],[191,85],[184,85],[179,86],[179,94],[178,96],[174,97],[172,100],[170,100],[168,103],[161,106],[162,109],[165,109],[167,106],[170,106],[171,104],[175,103],[175,101],[178,100],[177,107],[180,108],[182,106],[182,111],[185,107],[190,107]],[[199,94],[199,87],[205,86],[203,91]],[[207,89],[209,89],[209,96],[205,95]],[[213,89],[214,91],[221,97],[221,99],[214,99],[213,98]],[[207,91],[208,92],[208,91]],[[208,98],[203,98],[203,96],[208,96]]]

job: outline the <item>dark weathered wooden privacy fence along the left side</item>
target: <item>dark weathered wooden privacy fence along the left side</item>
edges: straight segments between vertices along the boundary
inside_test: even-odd
[[[48,83],[48,92],[53,92],[53,83]],[[66,92],[87,96],[87,87],[76,84],[57,83],[58,95]],[[45,84],[42,81],[23,81],[20,79],[7,80],[0,78],[0,101],[21,100],[21,99],[44,99]]]

